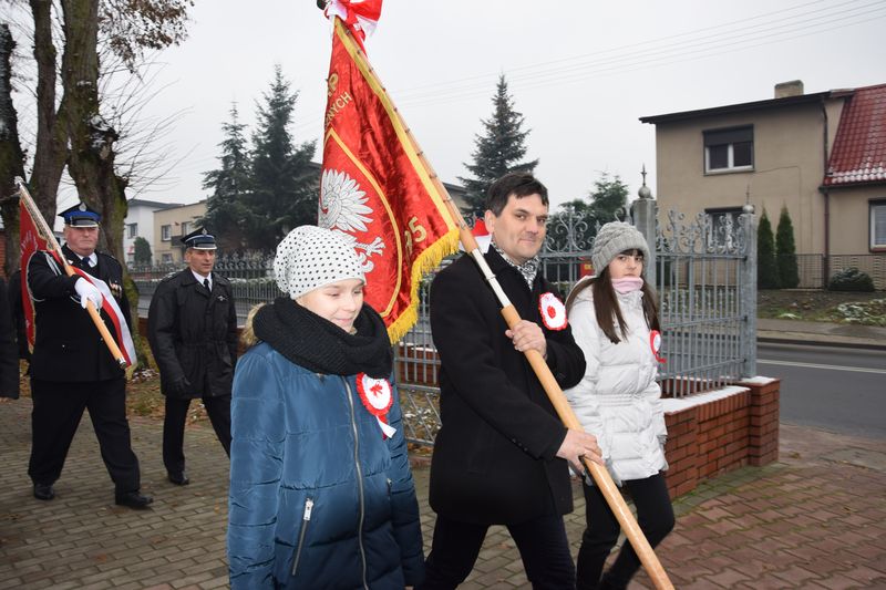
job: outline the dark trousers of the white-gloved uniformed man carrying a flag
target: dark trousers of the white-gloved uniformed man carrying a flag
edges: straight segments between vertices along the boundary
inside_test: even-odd
[[[83,411],[90,411],[102,460],[117,493],[138,489],[138,459],[132,452],[126,420],[126,381],[58,382],[31,379],[31,460],[35,484],[53,484],[62,474],[68,449]]]

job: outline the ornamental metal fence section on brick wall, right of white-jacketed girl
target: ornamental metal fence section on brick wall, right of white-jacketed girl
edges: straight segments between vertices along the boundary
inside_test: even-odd
[[[666,394],[722,387],[756,372],[756,225],[752,209],[687,220],[668,213],[655,266]]]

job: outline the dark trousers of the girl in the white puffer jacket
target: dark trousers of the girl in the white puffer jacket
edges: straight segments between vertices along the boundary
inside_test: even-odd
[[[673,529],[673,507],[668,495],[664,476],[656,474],[646,479],[625,482],[637,507],[637,524],[649,545],[656,547]],[[606,558],[618,541],[620,526],[609,505],[606,504],[597,486],[583,486],[585,489],[585,516],[587,528],[578,550],[579,590],[595,589],[600,583]],[[612,567],[606,572],[606,588],[626,588],[640,568],[640,559],[630,541],[625,540]]]

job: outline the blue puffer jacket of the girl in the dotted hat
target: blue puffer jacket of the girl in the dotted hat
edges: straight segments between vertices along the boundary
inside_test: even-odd
[[[267,343],[234,377],[228,562],[238,588],[398,589],[422,537],[401,410],[383,439],[353,375],[319,375]]]

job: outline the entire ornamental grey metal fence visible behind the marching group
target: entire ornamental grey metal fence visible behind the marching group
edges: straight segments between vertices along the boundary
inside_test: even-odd
[[[647,261],[647,280],[657,286],[664,358],[659,379],[666,395],[684,396],[710,391],[756,371],[756,235],[751,209],[713,220],[704,214],[692,219],[677,213],[658,221],[655,200],[632,204],[626,220],[633,222],[655,245]],[[577,215],[552,219],[540,252],[542,270],[562,294],[593,273],[590,249],[600,224]],[[140,289],[140,314],[147,314],[157,282],[182,267],[137,268],[131,273]],[[227,257],[216,270],[234,287],[240,323],[255,304],[282,294],[272,279],[267,257]],[[419,319],[395,344],[398,385],[406,437],[433,445],[440,429],[440,360],[430,328],[425,277],[420,293]]]

